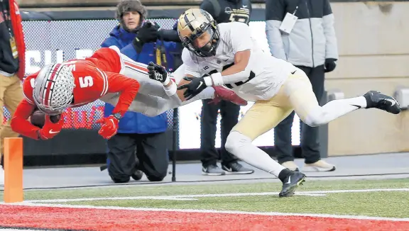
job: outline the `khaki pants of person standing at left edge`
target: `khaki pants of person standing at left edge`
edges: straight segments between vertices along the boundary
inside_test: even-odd
[[[4,153],[4,138],[6,137],[18,137],[18,133],[11,130],[10,121],[13,118],[14,112],[23,100],[23,89],[21,88],[21,80],[16,75],[12,77],[5,77],[0,74],[0,160]],[[3,106],[6,106],[7,110],[11,113],[10,120],[6,125],[3,125],[4,110]]]

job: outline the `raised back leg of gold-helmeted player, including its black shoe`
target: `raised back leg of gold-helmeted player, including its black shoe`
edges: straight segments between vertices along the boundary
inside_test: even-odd
[[[400,106],[395,98],[377,91],[369,91],[364,96],[329,101],[324,106],[319,106],[309,79],[300,69],[288,77],[283,89],[300,119],[311,127],[324,125],[359,108],[378,108],[393,114],[400,113]]]

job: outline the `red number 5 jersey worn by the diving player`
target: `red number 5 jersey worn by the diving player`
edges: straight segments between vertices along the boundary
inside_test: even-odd
[[[115,50],[110,48],[101,48],[92,57],[85,60],[70,60],[61,64],[70,67],[75,79],[74,99],[70,107],[84,106],[108,93],[119,93],[119,101],[112,113],[121,113],[124,116],[138,93],[138,81],[119,74],[121,58]],[[38,72],[31,74],[23,81],[25,99],[18,105],[11,119],[11,128],[16,133],[33,139],[38,139],[36,131],[40,128],[32,125],[27,119],[36,109],[33,87],[37,76]]]

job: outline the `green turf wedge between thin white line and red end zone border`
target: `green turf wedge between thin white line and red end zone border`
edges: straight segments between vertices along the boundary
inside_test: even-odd
[[[197,201],[121,200],[79,201],[67,204],[408,218],[409,208],[406,205],[408,201],[408,192],[371,192],[330,193],[327,196],[293,196],[291,198],[278,198],[278,196],[229,196],[198,198]]]

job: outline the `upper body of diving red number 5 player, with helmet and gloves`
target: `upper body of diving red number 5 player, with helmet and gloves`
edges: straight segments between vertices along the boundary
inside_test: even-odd
[[[18,105],[11,119],[11,128],[32,139],[48,140],[58,133],[64,124],[62,116],[57,123],[50,116],[60,115],[68,107],[84,106],[107,94],[120,94],[113,114],[98,120],[99,134],[109,139],[116,134],[119,119],[128,110],[139,90],[136,79],[121,72],[120,55],[110,48],[102,48],[84,60],[50,64],[23,81],[25,98]],[[27,119],[38,108],[43,111],[43,128],[32,125]]]

